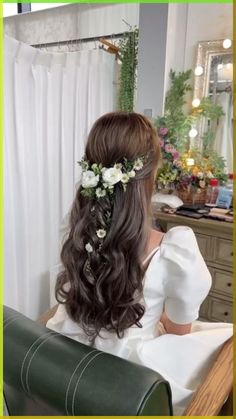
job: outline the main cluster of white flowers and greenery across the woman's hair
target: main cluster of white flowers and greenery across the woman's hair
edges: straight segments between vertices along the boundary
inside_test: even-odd
[[[90,164],[85,158],[78,162],[82,168],[81,194],[89,198],[101,199],[114,193],[114,186],[120,183],[126,191],[127,183],[135,178],[136,172],[143,168],[144,157],[135,160],[123,159],[112,167],[101,163]]]

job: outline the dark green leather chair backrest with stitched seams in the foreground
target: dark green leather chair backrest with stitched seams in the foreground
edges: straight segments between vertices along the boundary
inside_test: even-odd
[[[172,416],[170,386],[157,372],[9,307],[3,327],[4,398],[11,416]]]

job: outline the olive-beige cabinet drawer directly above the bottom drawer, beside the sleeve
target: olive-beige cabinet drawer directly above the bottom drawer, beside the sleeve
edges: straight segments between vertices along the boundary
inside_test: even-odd
[[[212,291],[216,291],[233,298],[233,274],[210,268],[212,274]]]

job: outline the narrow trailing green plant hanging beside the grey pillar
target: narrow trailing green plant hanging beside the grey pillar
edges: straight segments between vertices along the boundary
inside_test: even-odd
[[[134,109],[134,94],[137,83],[138,64],[138,34],[137,28],[130,28],[119,42],[120,48],[120,89],[118,106],[121,111],[132,112]]]

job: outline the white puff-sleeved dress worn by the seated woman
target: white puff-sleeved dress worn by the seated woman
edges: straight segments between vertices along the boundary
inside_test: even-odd
[[[149,258],[143,289],[143,327],[129,328],[122,339],[104,331],[94,346],[158,371],[171,385],[174,415],[182,415],[216,352],[232,335],[232,325],[195,321],[209,292],[211,277],[189,227],[169,230]],[[191,333],[166,334],[159,322],[164,309],[175,323],[193,322]],[[59,305],[47,327],[89,344],[63,305]]]

